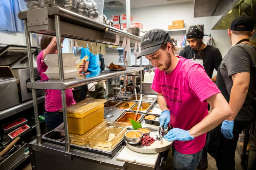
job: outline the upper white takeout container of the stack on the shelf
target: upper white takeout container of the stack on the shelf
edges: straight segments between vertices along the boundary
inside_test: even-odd
[[[79,58],[76,58],[76,56],[73,53],[62,53],[62,60],[63,60],[63,66],[74,66],[76,61]],[[59,67],[58,63],[58,54],[48,54],[45,56],[44,63],[48,67]]]

